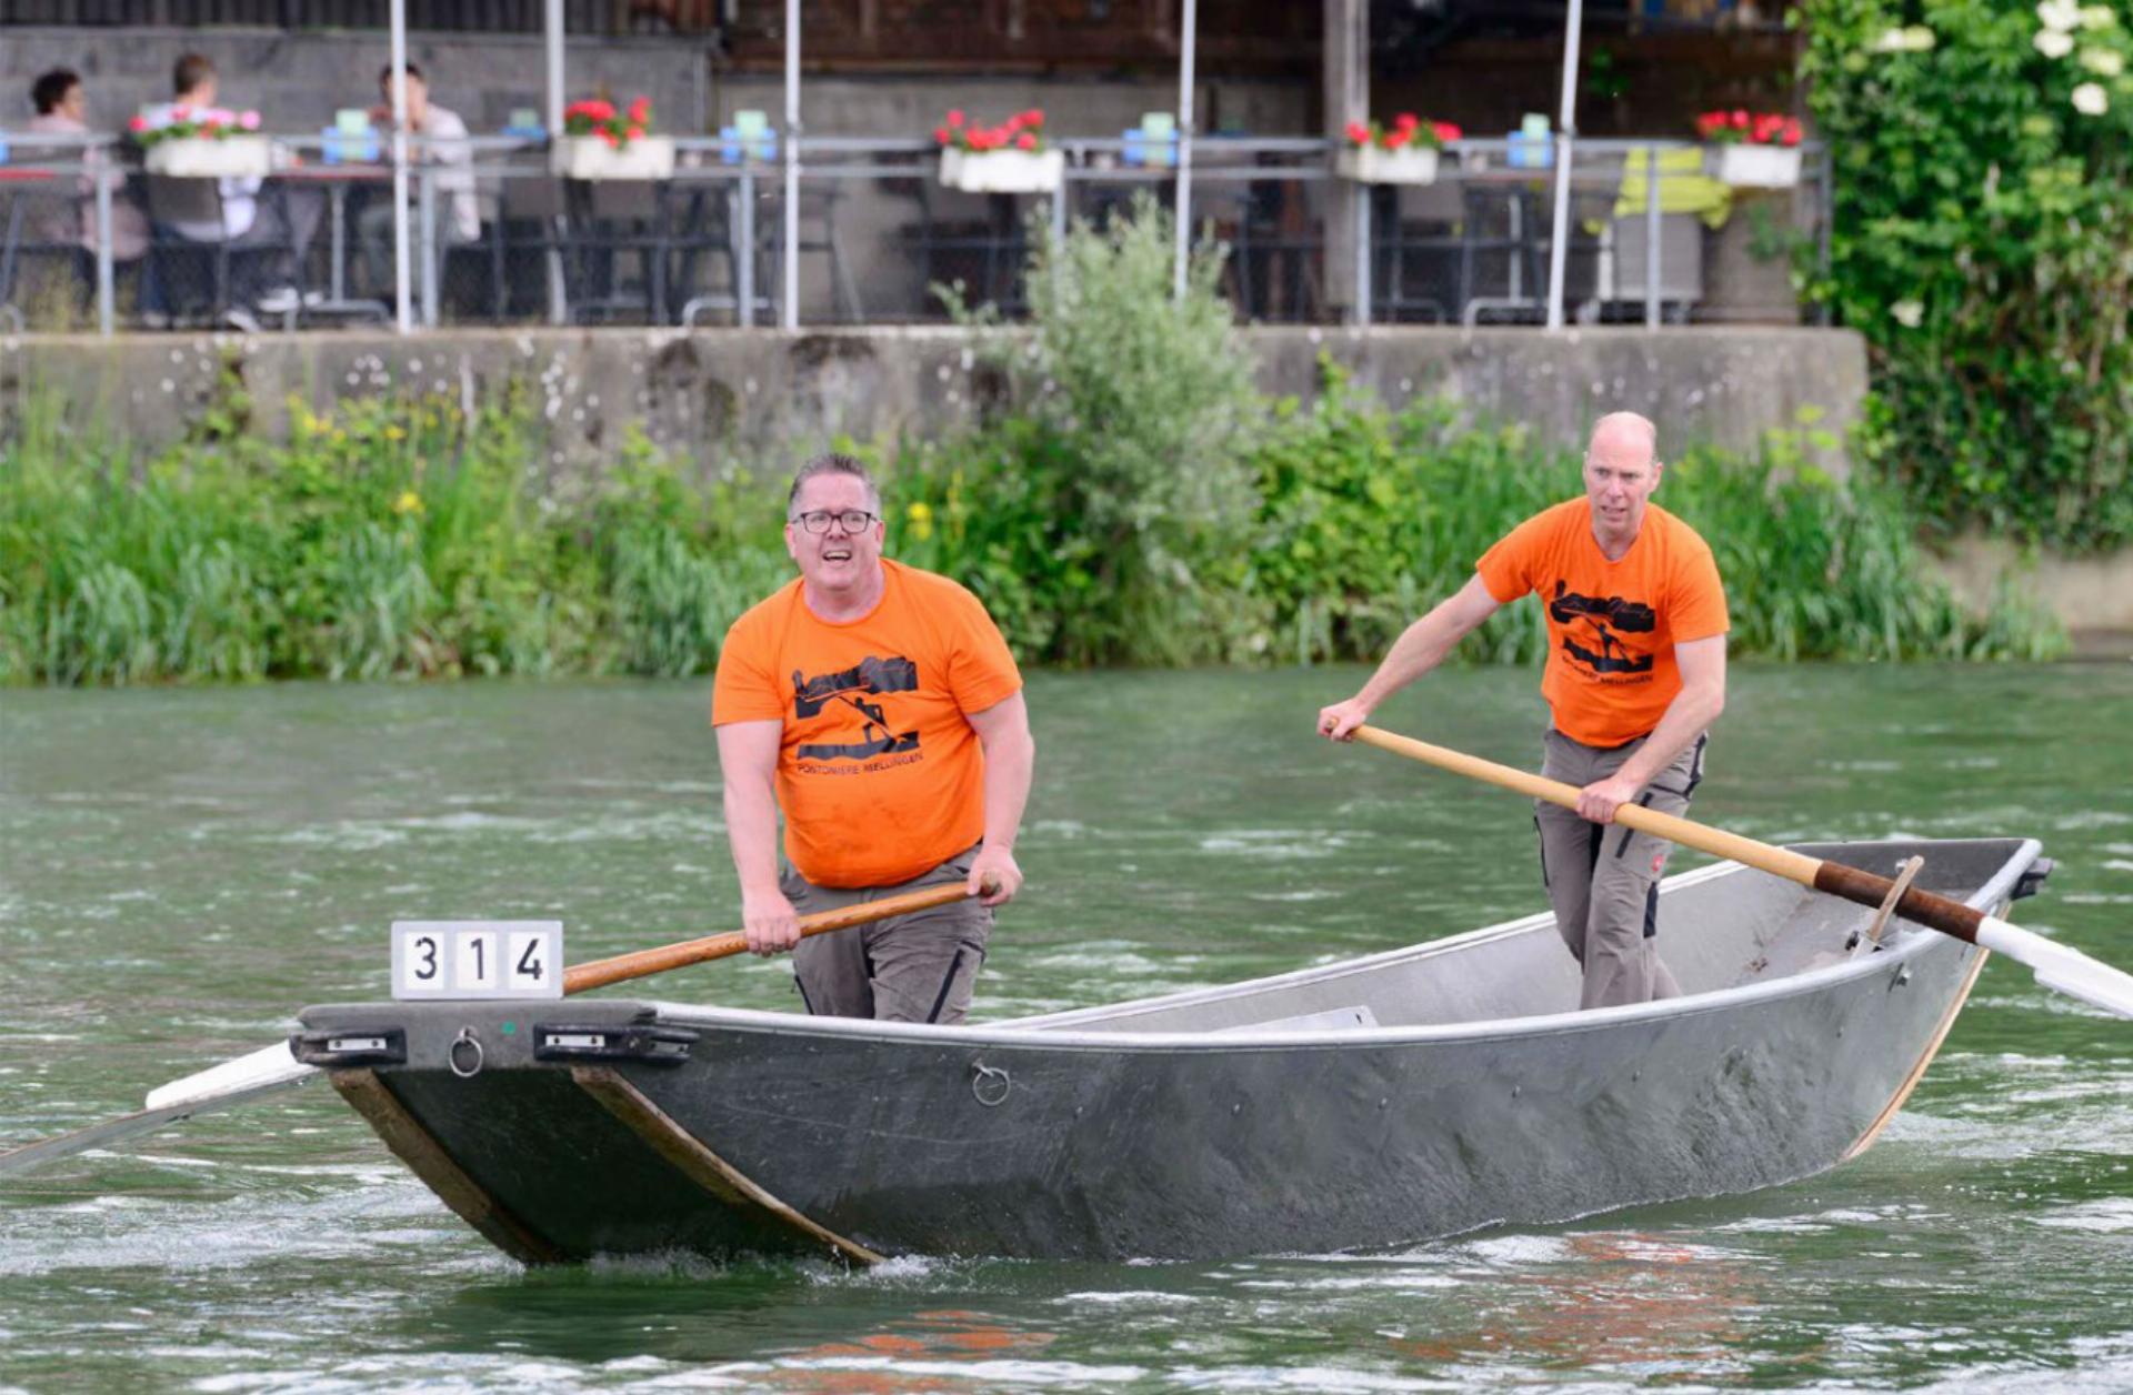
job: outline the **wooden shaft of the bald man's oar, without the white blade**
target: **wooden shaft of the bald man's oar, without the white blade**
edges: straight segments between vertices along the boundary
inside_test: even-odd
[[[1414,740],[1412,736],[1399,736],[1382,727],[1357,727],[1354,738],[1378,747],[1380,751],[1406,755],[1410,759],[1438,766],[1440,770],[1450,770],[1455,774],[1465,774],[1536,800],[1546,800],[1549,804],[1561,804],[1563,808],[1578,806],[1578,789],[1574,785],[1563,785],[1561,781],[1551,781],[1527,770],[1485,761],[1478,755],[1465,755],[1463,751],[1450,751],[1446,747],[1431,747],[1427,740]],[[1843,866],[1841,862],[1809,857],[1807,853],[1794,853],[1792,849],[1770,847],[1768,843],[1743,838],[1741,834],[1728,834],[1726,830],[1711,828],[1709,823],[1696,823],[1679,815],[1645,808],[1642,804],[1623,804],[1615,811],[1615,821],[1623,828],[1634,828],[1636,832],[1666,838],[1668,843],[1679,843],[1681,847],[1694,847],[1696,851],[1711,853],[1713,857],[1741,862],[1770,872],[1773,877],[1783,877],[1785,881],[1796,881],[1802,887],[1815,887],[1817,892],[1841,896],[1862,907],[1879,907],[1881,898],[1886,898],[1890,887],[1896,885],[1888,877],[1875,877],[1873,872],[1862,872],[1858,868]],[[1918,887],[1903,894],[1903,900],[1896,902],[1896,913],[1913,924],[1930,926],[1932,930],[1941,930],[1971,943],[1977,941],[1977,928],[1984,924],[1982,911],[1973,911],[1971,907],[1947,900],[1945,896],[1935,896],[1932,892],[1920,892]]]

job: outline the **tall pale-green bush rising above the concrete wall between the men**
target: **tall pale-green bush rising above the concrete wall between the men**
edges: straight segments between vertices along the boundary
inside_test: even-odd
[[[951,484],[977,469],[1039,506],[1037,531],[985,544],[994,572],[1009,561],[1058,572],[1060,604],[1037,644],[1047,661],[1226,659],[1239,625],[1250,629],[1233,602],[1265,407],[1216,288],[1220,256],[1197,256],[1186,294],[1173,296],[1171,228],[1145,194],[1064,239],[1032,222],[1030,328],[964,316],[1005,373],[1017,420],[951,444],[951,463],[921,478]],[[992,469],[1005,461],[1009,471]],[[947,495],[913,501],[953,508]]]

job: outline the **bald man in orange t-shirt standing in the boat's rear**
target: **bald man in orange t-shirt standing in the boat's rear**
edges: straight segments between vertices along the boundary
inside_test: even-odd
[[[1354,740],[1386,698],[1463,634],[1540,595],[1551,727],[1542,774],[1576,785],[1576,813],[1536,802],[1540,879],[1555,928],[1585,968],[1581,1007],[1681,992],[1659,962],[1659,875],[1672,845],[1608,828],[1623,804],[1685,813],[1704,776],[1706,729],[1726,708],[1726,591],[1711,548],[1651,503],[1657,431],[1602,416],[1585,448],[1585,497],[1542,510],[1474,565],[1474,578],[1406,634],[1363,689],[1318,712],[1318,734]]]

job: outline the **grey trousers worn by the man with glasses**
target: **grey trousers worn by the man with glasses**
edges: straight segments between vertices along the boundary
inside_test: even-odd
[[[800,915],[834,911],[896,892],[917,892],[971,877],[977,849],[894,887],[817,887],[785,868],[781,885]],[[793,945],[800,1000],[817,1017],[958,1024],[971,1011],[977,971],[992,939],[992,909],[953,900],[932,911],[877,919],[870,926],[811,934]]]

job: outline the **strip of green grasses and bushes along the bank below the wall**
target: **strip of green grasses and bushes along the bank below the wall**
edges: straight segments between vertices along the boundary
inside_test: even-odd
[[[1056,666],[1376,659],[1529,512],[1576,452],[1421,399],[1389,410],[1327,367],[1310,405],[1261,399],[1212,260],[1182,307],[1143,207],[1045,243],[1032,326],[975,324],[1011,403],[936,442],[860,446],[889,555],[964,580],[1015,653]],[[531,401],[290,405],[241,397],[151,459],[32,401],[0,444],[0,678],[9,683],[697,674],[791,574],[793,461],[706,482],[631,435],[597,480],[552,480]],[[1755,456],[1687,450],[1659,499],[1717,550],[1734,653],[2046,657],[2009,597],[1967,614],[1928,580],[1901,499],[1807,463],[1813,422]],[[1514,606],[1463,657],[1531,661]]]

